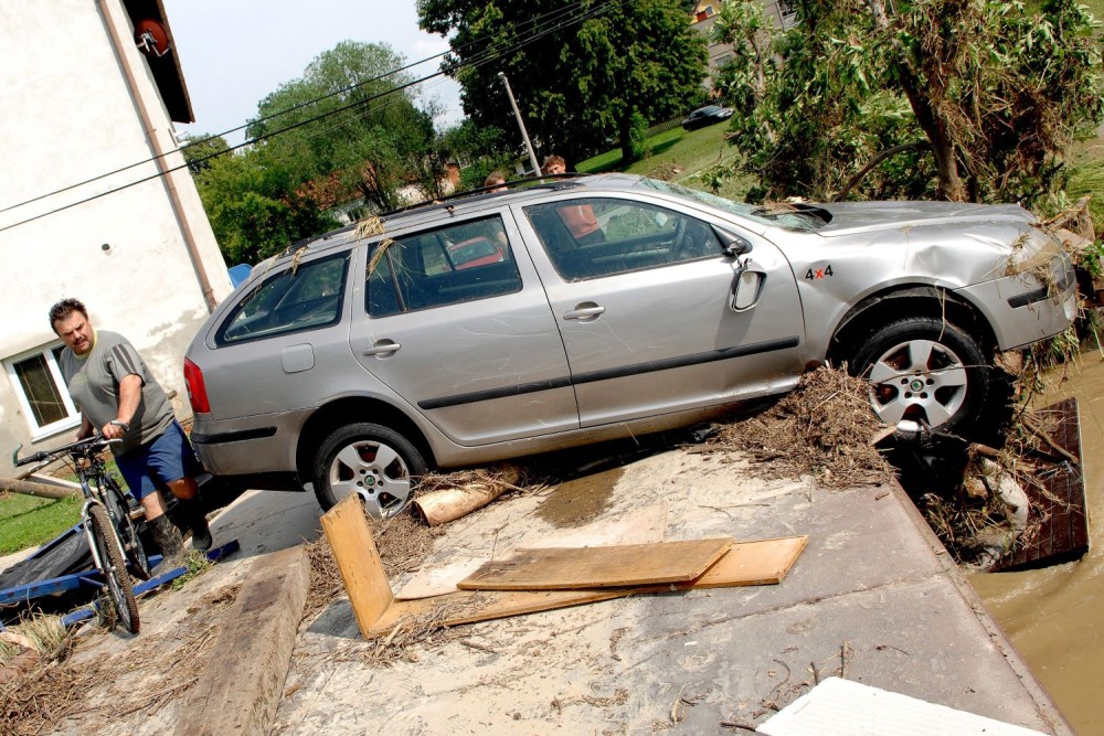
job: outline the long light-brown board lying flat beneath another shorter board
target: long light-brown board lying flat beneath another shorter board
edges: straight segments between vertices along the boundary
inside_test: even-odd
[[[697,580],[673,586],[668,584],[592,590],[458,590],[435,598],[396,600],[364,637],[370,639],[386,634],[404,619],[413,621],[439,618],[442,625],[448,627],[631,595],[777,584],[797,562],[807,543],[807,536],[793,536],[735,544]]]

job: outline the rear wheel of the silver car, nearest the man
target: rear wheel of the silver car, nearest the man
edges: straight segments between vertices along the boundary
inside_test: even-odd
[[[359,423],[326,438],[314,470],[315,495],[323,511],[357,492],[370,515],[388,519],[414,499],[413,483],[425,474],[426,465],[417,448],[399,433]]]

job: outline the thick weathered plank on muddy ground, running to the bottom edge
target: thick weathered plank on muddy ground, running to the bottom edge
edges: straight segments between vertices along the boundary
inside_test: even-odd
[[[302,546],[257,557],[177,718],[178,736],[267,734],[302,618],[310,563]]]

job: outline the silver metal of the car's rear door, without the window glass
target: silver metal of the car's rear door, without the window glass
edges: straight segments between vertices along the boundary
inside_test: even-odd
[[[352,289],[350,345],[363,370],[461,447],[578,427],[563,344],[550,339],[556,326],[548,298],[512,222],[507,234],[522,281],[516,294],[370,318],[363,279]],[[365,273],[367,253],[360,248],[358,273]],[[365,354],[386,343],[400,348]]]

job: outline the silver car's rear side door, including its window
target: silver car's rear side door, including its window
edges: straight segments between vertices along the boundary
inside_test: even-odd
[[[362,248],[353,353],[459,445],[578,427],[555,320],[509,222],[450,222]],[[496,257],[465,260],[484,242]]]

